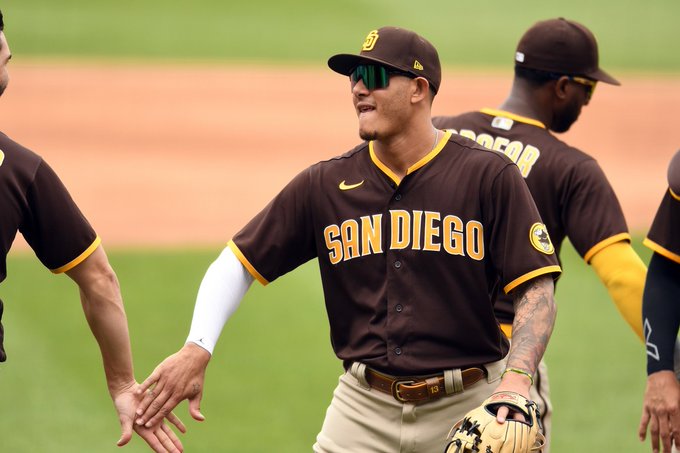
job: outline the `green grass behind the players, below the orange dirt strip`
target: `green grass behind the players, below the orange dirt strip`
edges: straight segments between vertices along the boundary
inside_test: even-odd
[[[639,251],[647,261],[649,254]],[[198,285],[218,252],[110,252],[138,379],[183,344]],[[563,256],[547,354],[553,452],[649,451],[636,438],[644,349],[571,246]],[[2,287],[9,360],[0,367],[0,450],[117,451],[117,421],[76,286],[30,253],[13,253],[9,272]],[[266,288],[254,284],[208,367],[207,421],[190,420],[186,403],[177,410],[189,428],[187,451],[310,451],[340,372],[316,263]],[[134,438],[127,451],[146,449]]]

